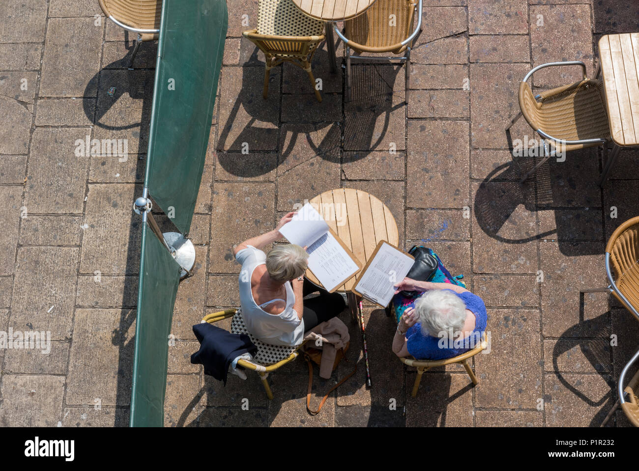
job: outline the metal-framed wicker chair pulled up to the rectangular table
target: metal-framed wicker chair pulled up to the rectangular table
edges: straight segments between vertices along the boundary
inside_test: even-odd
[[[583,80],[533,96],[527,83],[532,74],[541,68],[558,65],[581,65]],[[506,131],[523,116],[530,127],[544,138],[545,154],[544,158],[524,175],[521,183],[558,150],[564,152],[603,145],[604,151],[607,152],[606,144],[611,138],[603,98],[603,83],[586,77],[586,66],[583,62],[551,62],[533,68],[520,83],[519,104],[521,111],[511,120]],[[599,182],[600,185],[603,185],[603,177],[604,175]]]

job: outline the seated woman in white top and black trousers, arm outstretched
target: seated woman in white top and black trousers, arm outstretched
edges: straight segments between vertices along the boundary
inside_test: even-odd
[[[273,345],[296,346],[304,332],[340,314],[346,304],[341,294],[329,293],[304,279],[308,254],[295,244],[277,244],[280,228],[295,216],[289,212],[277,227],[235,248],[240,270],[240,307],[244,323],[255,337]],[[304,297],[319,291],[319,296]]]

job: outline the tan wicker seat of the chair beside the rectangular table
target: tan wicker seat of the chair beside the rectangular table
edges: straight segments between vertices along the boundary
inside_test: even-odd
[[[610,139],[602,87],[601,81],[585,80],[542,93],[541,102],[533,105],[539,129],[566,141]]]

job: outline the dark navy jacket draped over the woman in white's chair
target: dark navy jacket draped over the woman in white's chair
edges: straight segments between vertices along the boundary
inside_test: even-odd
[[[204,365],[204,374],[224,381],[225,386],[231,362],[244,353],[255,355],[258,351],[248,335],[231,333],[208,322],[194,325],[193,333],[200,348],[191,355],[191,363]]]

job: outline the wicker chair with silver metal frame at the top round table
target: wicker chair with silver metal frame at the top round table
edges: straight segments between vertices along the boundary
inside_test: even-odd
[[[417,27],[413,29],[413,17],[417,15]],[[344,34],[337,25],[333,25],[335,34],[346,47],[346,92],[350,97],[351,59],[376,60],[376,56],[353,56],[351,49],[362,52],[392,52],[403,54],[401,57],[385,57],[386,60],[406,62],[406,104],[410,87],[410,51],[413,39],[422,30],[422,0],[376,0],[373,5],[358,17],[344,22]]]

